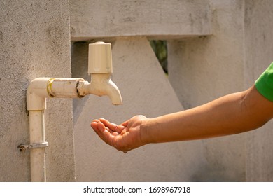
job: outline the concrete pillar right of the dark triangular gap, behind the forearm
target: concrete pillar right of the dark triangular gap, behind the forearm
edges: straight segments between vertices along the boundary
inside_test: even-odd
[[[169,80],[185,109],[245,89],[244,1],[210,1],[211,36],[169,41]],[[245,135],[205,139],[200,181],[245,180]],[[202,173],[202,175],[201,175]]]

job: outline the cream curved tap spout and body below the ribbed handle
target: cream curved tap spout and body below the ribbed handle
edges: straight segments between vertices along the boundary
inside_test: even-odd
[[[120,90],[111,80],[111,73],[91,73],[91,82],[80,81],[77,89],[80,96],[87,94],[107,95],[113,105],[123,104]]]

